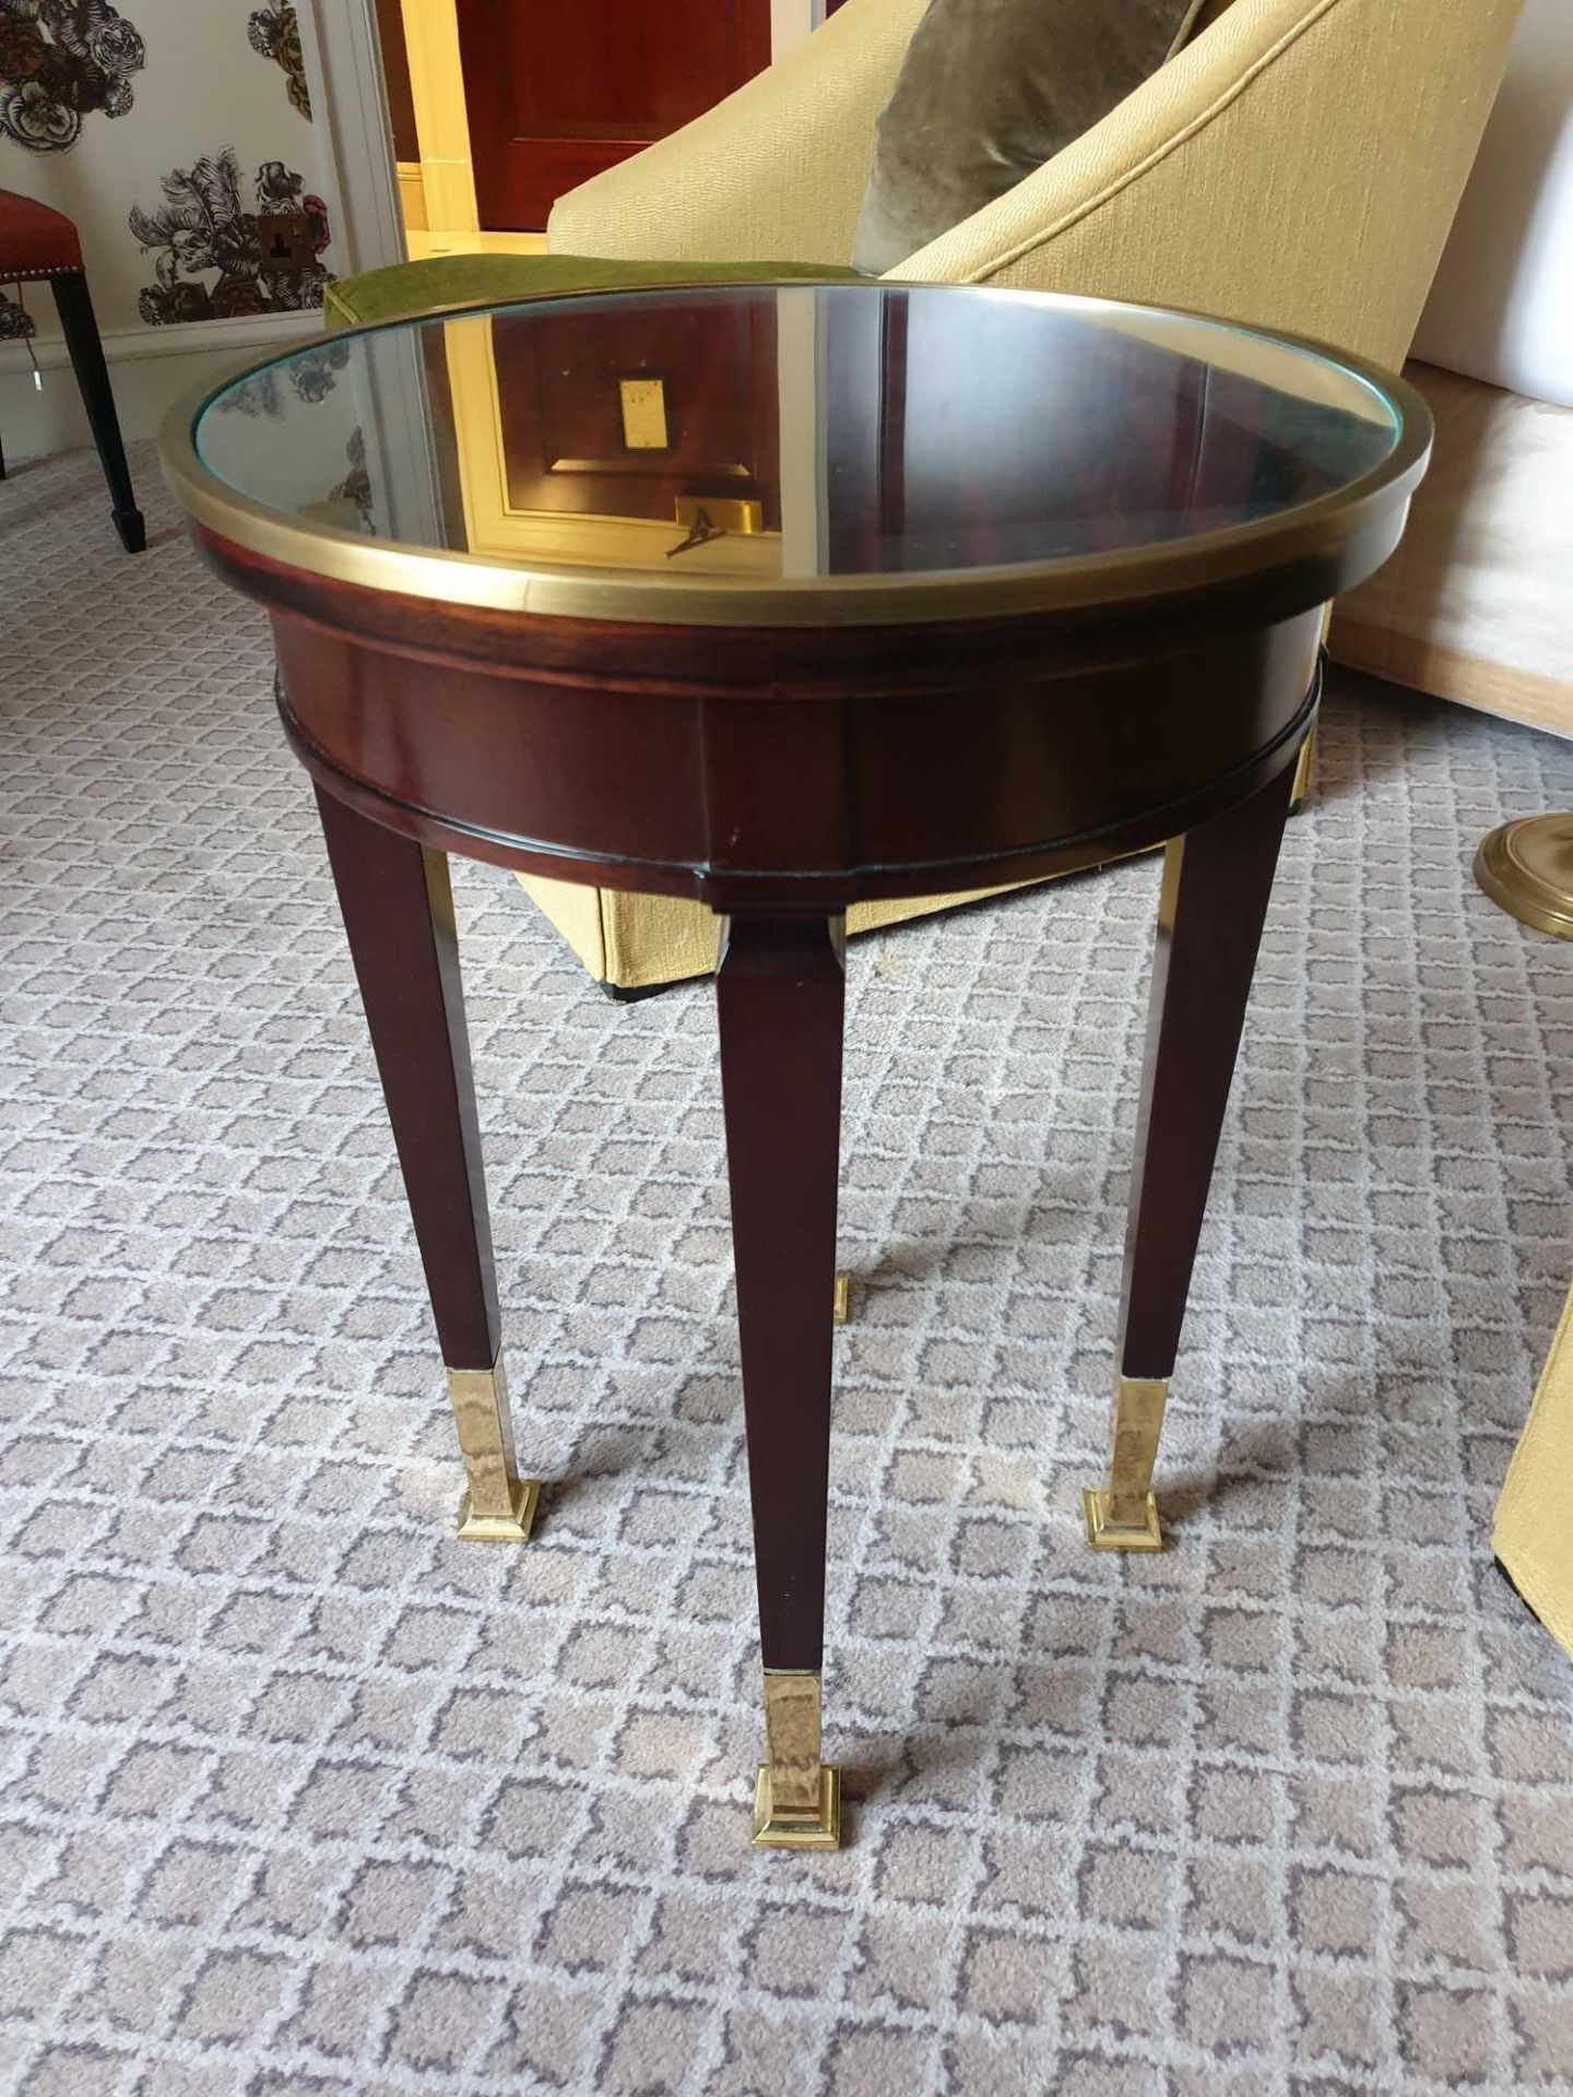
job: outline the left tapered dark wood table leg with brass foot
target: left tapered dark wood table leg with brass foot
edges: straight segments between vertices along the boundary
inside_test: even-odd
[[[317,807],[470,1480],[459,1535],[522,1541],[539,1485],[514,1462],[449,862],[321,786]]]

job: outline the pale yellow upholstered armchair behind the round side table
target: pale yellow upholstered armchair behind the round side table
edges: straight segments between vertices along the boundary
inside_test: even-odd
[[[847,0],[780,65],[566,195],[547,245],[845,264],[875,120],[923,6]],[[1191,42],[1101,124],[891,275],[1193,306],[1399,365],[1518,6],[1212,0]],[[715,918],[698,904],[524,887],[610,986],[715,965]],[[847,927],[961,900],[862,906]]]

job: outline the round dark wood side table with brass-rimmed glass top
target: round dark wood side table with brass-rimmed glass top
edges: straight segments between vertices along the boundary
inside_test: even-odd
[[[822,1761],[843,912],[1166,845],[1099,1550],[1158,1550],[1164,1399],[1323,608],[1397,545],[1420,398],[1095,300],[728,285],[327,338],[178,411],[273,619],[470,1480],[529,1535],[447,856],[692,898],[715,979],[768,1753]]]

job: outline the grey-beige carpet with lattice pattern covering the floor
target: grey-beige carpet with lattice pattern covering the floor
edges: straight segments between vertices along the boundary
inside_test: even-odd
[[[1342,679],[1160,1464],[1091,1556],[1154,862],[852,954],[828,1753],[755,1856],[713,1019],[461,931],[526,1550],[451,1539],[262,621],[0,489],[0,2045],[27,2097],[1573,2087],[1573,1678],[1487,1529],[1573,1273],[1573,751]]]

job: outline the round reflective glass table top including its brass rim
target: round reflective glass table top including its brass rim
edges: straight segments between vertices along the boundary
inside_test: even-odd
[[[698,623],[988,617],[1260,572],[1420,478],[1372,367],[1049,294],[600,291],[323,338],[166,438],[220,539],[346,583]]]

